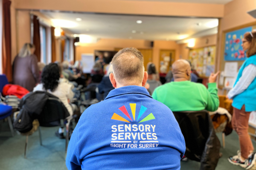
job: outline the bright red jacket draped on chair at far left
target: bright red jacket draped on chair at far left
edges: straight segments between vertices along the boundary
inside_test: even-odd
[[[21,99],[23,96],[25,96],[28,93],[29,91],[26,88],[23,88],[19,85],[8,84],[3,87],[4,96],[14,95]]]

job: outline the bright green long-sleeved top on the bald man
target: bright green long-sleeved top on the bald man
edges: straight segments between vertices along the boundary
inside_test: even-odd
[[[216,83],[169,82],[155,89],[152,97],[171,111],[216,111],[219,106]]]

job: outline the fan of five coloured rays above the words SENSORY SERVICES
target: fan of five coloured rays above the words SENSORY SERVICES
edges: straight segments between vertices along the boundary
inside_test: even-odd
[[[131,113],[132,113],[132,116],[133,116],[133,119],[131,119],[131,116],[129,115],[127,109],[125,108],[125,105],[123,105],[121,108],[119,108],[120,111],[122,111],[122,113],[125,114],[125,116],[128,117],[128,119],[132,121],[139,121],[140,117],[145,113],[145,111],[148,109],[146,107],[144,107],[143,105],[141,105],[140,107],[140,113],[138,115],[138,118],[137,120],[135,120],[135,114],[136,114],[136,103],[130,103],[130,107],[131,107]],[[119,120],[119,121],[122,121],[122,122],[128,122],[128,123],[131,123],[129,122],[127,119],[125,119],[124,117],[122,116],[119,116],[118,114],[114,113],[112,118],[111,119],[114,119],[114,120]],[[144,119],[142,119],[139,123],[141,122],[145,122],[145,121],[148,121],[148,120],[152,120],[152,119],[155,119],[154,115],[152,113],[150,113],[148,116],[146,116]]]

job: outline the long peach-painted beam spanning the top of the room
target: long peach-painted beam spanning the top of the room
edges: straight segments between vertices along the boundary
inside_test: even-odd
[[[223,17],[224,14],[221,4],[135,0],[18,0],[17,8],[193,17]]]

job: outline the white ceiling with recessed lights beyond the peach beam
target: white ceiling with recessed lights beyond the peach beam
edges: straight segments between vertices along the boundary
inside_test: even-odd
[[[74,34],[87,34],[96,38],[180,40],[209,29],[207,23],[217,19],[154,17],[114,14],[82,14],[65,12],[42,12],[52,19],[69,20],[77,23],[68,28]],[[82,21],[76,21],[81,18]],[[137,20],[143,23],[137,24]],[[197,23],[201,23],[198,26]],[[135,30],[136,33],[132,33]],[[177,34],[179,32],[180,34]]]

